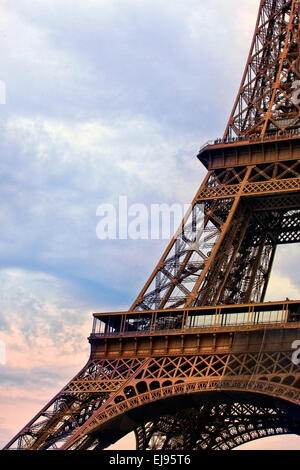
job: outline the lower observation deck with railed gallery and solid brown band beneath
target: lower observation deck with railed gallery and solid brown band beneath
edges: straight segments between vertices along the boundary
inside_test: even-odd
[[[93,360],[254,352],[262,342],[278,351],[300,330],[300,300],[93,315]]]

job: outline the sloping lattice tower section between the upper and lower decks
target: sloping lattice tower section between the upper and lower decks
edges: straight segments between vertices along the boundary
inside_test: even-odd
[[[276,246],[300,241],[299,190],[298,160],[209,172],[130,310],[263,301]]]

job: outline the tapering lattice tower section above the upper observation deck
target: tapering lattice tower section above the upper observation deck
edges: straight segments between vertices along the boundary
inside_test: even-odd
[[[262,0],[223,141],[299,127],[299,2]]]

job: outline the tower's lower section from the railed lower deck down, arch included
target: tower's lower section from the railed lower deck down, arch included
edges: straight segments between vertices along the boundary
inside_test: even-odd
[[[299,301],[146,314],[95,314],[86,366],[5,448],[105,449],[134,431],[137,449],[228,449],[299,433]]]

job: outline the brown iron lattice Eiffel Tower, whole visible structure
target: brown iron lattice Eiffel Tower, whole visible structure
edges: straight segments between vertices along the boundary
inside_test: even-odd
[[[300,301],[264,302],[300,241],[300,2],[262,0],[207,175],[129,311],[95,313],[83,369],[5,449],[232,449],[300,434]]]

